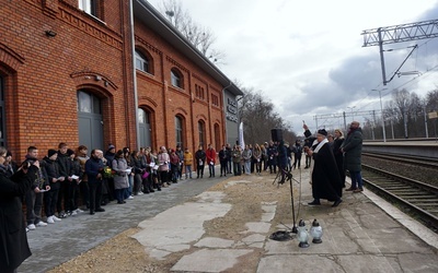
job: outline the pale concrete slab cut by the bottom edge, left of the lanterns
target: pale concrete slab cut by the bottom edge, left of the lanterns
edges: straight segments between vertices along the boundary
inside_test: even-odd
[[[234,266],[238,259],[251,253],[251,249],[201,249],[184,256],[172,272],[223,272]]]

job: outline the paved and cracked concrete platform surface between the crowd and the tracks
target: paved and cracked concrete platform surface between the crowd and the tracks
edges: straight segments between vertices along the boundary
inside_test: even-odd
[[[46,272],[136,226],[142,230],[132,237],[149,257],[160,260],[183,253],[171,272],[438,272],[437,234],[366,189],[361,193],[345,192],[337,207],[326,201],[310,206],[310,171],[292,174],[301,181],[300,192],[293,193],[300,194],[296,203],[300,217],[308,221],[308,228],[310,219],[319,221],[323,228],[322,244],[312,244],[310,239],[309,248],[300,248],[297,238],[269,239],[273,230],[292,226],[292,222],[284,223],[285,226],[274,224],[278,205],[275,202],[260,204],[262,217],[249,219],[243,239],[206,237],[204,223],[227,217],[232,209],[226,194],[209,190],[210,187],[223,181],[227,187],[255,185],[261,179],[272,181],[273,175],[204,179],[201,183],[193,179],[165,189],[168,192],[160,192],[161,195],[137,198],[129,209],[108,205],[105,215],[90,217],[84,213],[77,215],[74,222],[67,218],[56,227],[30,232],[34,254],[19,272]],[[160,205],[149,212],[138,210],[148,204]],[[67,233],[69,236],[65,236]],[[255,253],[256,259],[245,260]],[[245,271],[245,262],[253,263],[251,268],[256,270]]]

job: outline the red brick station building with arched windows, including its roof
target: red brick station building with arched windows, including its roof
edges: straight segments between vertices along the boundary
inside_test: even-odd
[[[0,20],[0,145],[15,158],[238,138],[242,92],[145,0],[2,1]]]

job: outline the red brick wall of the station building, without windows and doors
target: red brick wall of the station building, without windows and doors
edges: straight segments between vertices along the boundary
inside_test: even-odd
[[[3,1],[0,5],[0,75],[4,79],[8,147],[16,159],[30,145],[77,147],[77,92],[101,98],[104,144],[136,143],[136,109],[129,1],[101,1],[100,20],[78,9],[77,0]],[[104,23],[103,23],[104,22]],[[46,31],[56,33],[55,37]],[[175,116],[183,119],[184,145],[196,151],[198,121],[205,144],[224,142],[222,86],[148,26],[136,22],[136,47],[153,60],[153,73],[137,71],[139,107],[150,114],[152,145],[175,146]],[[171,69],[184,86],[171,85]],[[101,79],[96,81],[96,76]],[[195,97],[195,85],[206,91]],[[211,93],[219,106],[211,106]],[[220,130],[216,130],[215,124]],[[220,135],[217,135],[220,134]]]

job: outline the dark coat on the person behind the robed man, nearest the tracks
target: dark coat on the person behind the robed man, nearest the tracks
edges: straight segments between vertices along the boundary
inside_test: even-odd
[[[341,147],[344,151],[344,168],[349,171],[360,171],[362,163],[362,130],[360,128],[350,130]]]

